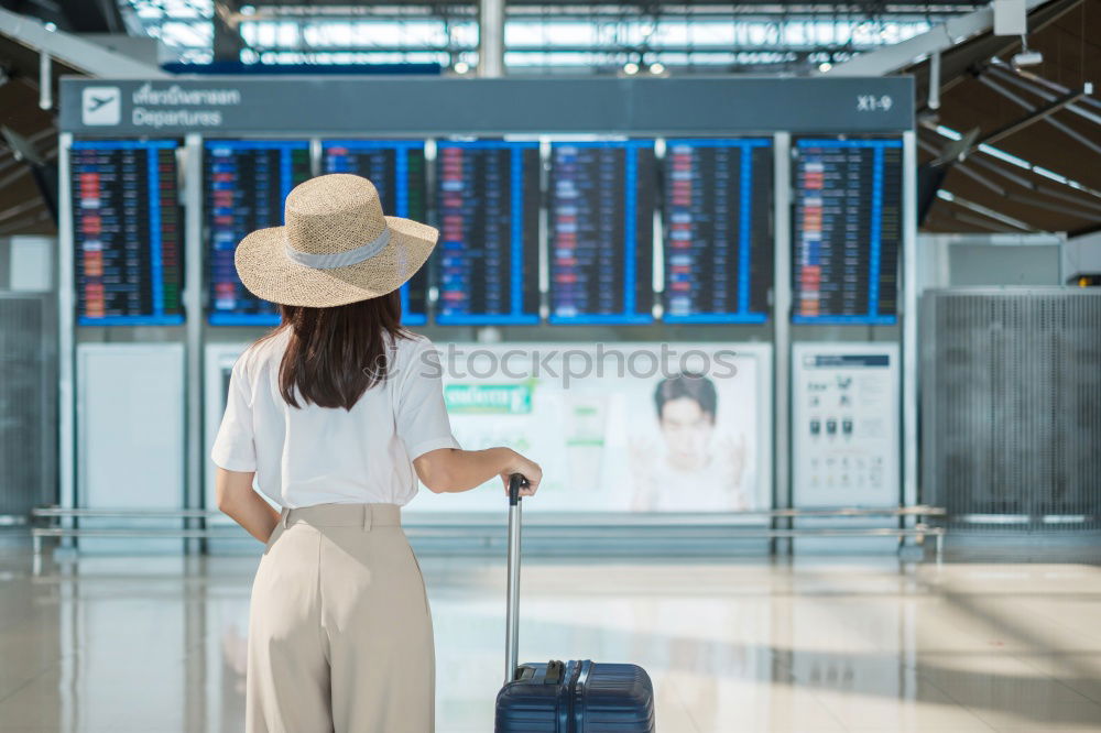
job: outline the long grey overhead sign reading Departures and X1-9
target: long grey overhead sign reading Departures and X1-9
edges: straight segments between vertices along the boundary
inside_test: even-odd
[[[900,132],[913,120],[911,77],[221,76],[65,78],[58,127],[94,136],[255,136],[321,129],[353,135],[672,136]]]

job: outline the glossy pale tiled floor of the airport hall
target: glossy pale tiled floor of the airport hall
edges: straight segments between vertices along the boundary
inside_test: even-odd
[[[255,558],[0,549],[0,731],[239,731]],[[503,566],[422,560],[440,733],[488,733]],[[662,733],[1101,731],[1101,568],[532,564],[521,655],[644,665]]]

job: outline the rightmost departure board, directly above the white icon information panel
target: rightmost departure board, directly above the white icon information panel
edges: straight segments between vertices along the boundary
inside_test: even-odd
[[[795,142],[794,322],[893,324],[902,141]]]

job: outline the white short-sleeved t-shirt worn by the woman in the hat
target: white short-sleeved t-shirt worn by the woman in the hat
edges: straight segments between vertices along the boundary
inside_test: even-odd
[[[280,506],[383,503],[403,506],[417,491],[413,459],[458,448],[444,406],[439,360],[424,337],[397,339],[385,382],[350,409],[286,404],[279,369],[290,333],[260,341],[233,364],[211,459],[255,471]]]

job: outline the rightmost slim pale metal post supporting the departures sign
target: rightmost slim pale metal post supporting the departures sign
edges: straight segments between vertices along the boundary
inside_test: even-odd
[[[918,500],[917,145],[913,130],[903,133],[902,144],[902,501],[903,505],[912,506]]]

